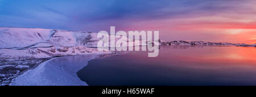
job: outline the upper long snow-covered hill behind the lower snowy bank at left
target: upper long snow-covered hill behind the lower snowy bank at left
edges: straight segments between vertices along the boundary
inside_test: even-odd
[[[97,33],[69,30],[0,28],[0,49],[42,46],[97,46]]]

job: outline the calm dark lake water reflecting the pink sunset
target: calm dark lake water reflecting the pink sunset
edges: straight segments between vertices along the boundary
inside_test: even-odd
[[[89,61],[77,76],[88,85],[256,85],[256,47],[161,46]],[[76,63],[76,61],[74,61]]]

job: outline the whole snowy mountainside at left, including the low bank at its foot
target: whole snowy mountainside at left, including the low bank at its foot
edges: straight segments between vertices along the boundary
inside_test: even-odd
[[[99,40],[97,33],[91,32],[0,28],[0,60],[112,53],[89,48],[97,46]]]

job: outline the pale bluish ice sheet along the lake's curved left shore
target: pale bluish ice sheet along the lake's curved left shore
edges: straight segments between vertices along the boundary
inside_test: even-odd
[[[86,86],[77,77],[77,72],[84,68],[89,60],[96,58],[96,54],[63,56],[51,59],[35,69],[20,75],[11,82],[11,86]],[[73,63],[76,61],[76,64]]]

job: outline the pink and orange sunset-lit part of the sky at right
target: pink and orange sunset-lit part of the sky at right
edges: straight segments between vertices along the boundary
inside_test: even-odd
[[[232,4],[228,4],[232,5]],[[228,6],[220,5],[220,6]],[[152,20],[127,20],[125,30],[159,30],[160,39],[256,43],[256,3],[237,3],[232,10],[192,11],[175,17]],[[164,9],[163,9],[164,10]],[[120,21],[119,21],[120,22]]]

